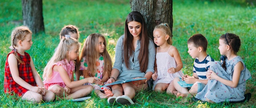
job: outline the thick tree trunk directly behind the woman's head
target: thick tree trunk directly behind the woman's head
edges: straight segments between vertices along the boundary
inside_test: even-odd
[[[158,24],[168,23],[173,31],[173,0],[130,0],[130,9],[144,16],[151,39]]]

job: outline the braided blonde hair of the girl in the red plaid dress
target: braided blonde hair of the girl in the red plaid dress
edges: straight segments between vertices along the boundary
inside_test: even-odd
[[[28,34],[32,34],[32,32],[27,26],[18,26],[11,32],[11,46],[9,48],[14,50],[14,55],[18,60],[18,64],[23,64],[24,62],[21,60],[20,56],[17,55],[15,47],[17,46],[18,41],[25,40]]]

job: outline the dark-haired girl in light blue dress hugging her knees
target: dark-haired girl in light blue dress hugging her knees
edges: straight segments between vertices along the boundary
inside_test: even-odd
[[[207,78],[210,80],[195,97],[215,103],[243,101],[246,81],[251,77],[251,73],[242,58],[236,55],[240,48],[240,39],[235,34],[226,33],[220,36],[219,43],[221,62],[211,64],[210,71],[207,72]]]

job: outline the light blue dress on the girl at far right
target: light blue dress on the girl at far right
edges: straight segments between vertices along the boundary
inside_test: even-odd
[[[227,71],[222,68],[221,62],[213,62],[210,66],[210,70],[214,71],[218,76],[223,79],[232,80],[234,67],[238,62],[243,63],[243,71],[241,71],[240,79],[236,88],[232,88],[230,86],[226,86],[221,82],[218,82],[215,79],[208,80],[207,85],[204,89],[197,93],[195,97],[202,101],[206,101],[206,98],[214,101],[216,103],[223,101],[242,101],[245,99],[245,88],[246,88],[246,80],[251,77],[251,73],[246,68],[245,63],[242,58],[237,56],[232,60],[225,60]]]

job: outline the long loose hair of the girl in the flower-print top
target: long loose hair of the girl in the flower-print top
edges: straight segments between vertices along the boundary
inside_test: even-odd
[[[112,61],[111,61],[110,55],[107,51],[106,38],[103,35],[101,35],[99,33],[92,33],[86,38],[86,40],[83,44],[83,48],[82,48],[79,60],[82,60],[83,57],[85,57],[86,58],[85,62],[87,62],[87,64],[88,64],[88,70],[90,71],[90,74],[95,76],[95,73],[97,70],[97,66],[95,63],[96,63],[96,60],[100,56],[100,54],[96,50],[99,46],[99,44],[98,44],[99,37],[102,37],[104,39],[104,45],[105,45],[105,49],[104,49],[103,53],[101,53],[101,55],[104,58],[103,75],[105,74],[105,72],[107,72],[108,76],[110,76],[110,72],[112,70]]]

